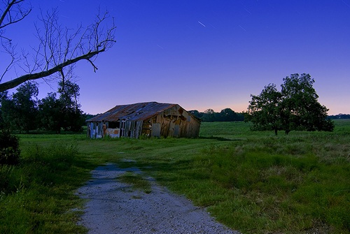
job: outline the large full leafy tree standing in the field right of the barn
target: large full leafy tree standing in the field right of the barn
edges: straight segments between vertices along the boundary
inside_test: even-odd
[[[332,131],[334,124],[327,118],[328,109],[318,103],[313,87],[314,79],[309,74],[292,74],[283,79],[281,92],[270,84],[260,95],[251,95],[246,121],[253,123],[255,130]]]

